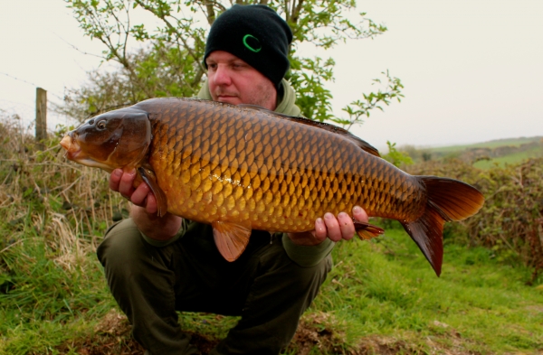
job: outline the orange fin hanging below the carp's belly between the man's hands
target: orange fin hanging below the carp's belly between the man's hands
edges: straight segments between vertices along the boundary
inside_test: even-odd
[[[249,244],[251,228],[236,223],[215,220],[211,223],[215,245],[228,261],[235,261]]]

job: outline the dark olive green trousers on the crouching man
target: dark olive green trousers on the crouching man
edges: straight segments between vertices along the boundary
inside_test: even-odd
[[[262,231],[253,231],[243,255],[227,262],[205,224],[157,248],[130,219],[106,233],[97,254],[133,337],[153,355],[198,353],[176,311],[241,316],[213,355],[279,354],[331,268],[330,256],[317,266],[298,266],[281,234]]]

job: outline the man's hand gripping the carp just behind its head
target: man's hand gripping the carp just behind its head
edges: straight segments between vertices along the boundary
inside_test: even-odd
[[[174,237],[181,228],[183,219],[171,213],[158,217],[155,195],[145,182],[141,182],[138,188],[134,189],[135,179],[135,170],[124,172],[121,169],[115,169],[110,174],[110,189],[120,192],[134,204],[130,210],[130,217],[148,238],[167,240]]]

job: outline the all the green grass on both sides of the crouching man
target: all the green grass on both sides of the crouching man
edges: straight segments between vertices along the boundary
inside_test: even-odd
[[[75,354],[77,346],[59,349],[96,336],[116,307],[92,253],[69,268],[47,253],[32,232],[2,253],[11,286],[0,293],[0,354]],[[446,244],[441,277],[399,229],[372,242],[340,243],[333,253],[334,270],[301,322],[333,335],[310,353],[373,349],[364,348],[367,341],[404,353],[543,350],[543,291],[525,285],[528,269],[504,266],[488,249]],[[180,322],[216,339],[235,319],[189,313]]]

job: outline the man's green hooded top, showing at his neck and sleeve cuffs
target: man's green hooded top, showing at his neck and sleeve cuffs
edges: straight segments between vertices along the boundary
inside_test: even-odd
[[[282,80],[281,85],[283,88],[283,94],[280,98],[278,98],[278,105],[275,108],[275,112],[294,117],[301,117],[300,107],[296,106],[296,93],[294,92],[294,89],[292,89],[289,82],[285,79]],[[211,94],[209,93],[209,87],[207,86],[207,82],[204,83],[202,89],[200,89],[200,92],[198,92],[197,98],[208,100],[212,99]],[[183,223],[181,229],[179,230],[179,232],[177,232],[176,237],[169,239],[166,242],[161,242],[148,238],[147,236],[143,235],[143,233],[142,235],[149,244],[155,247],[164,247],[170,243],[175,242],[178,238],[183,237],[186,234],[186,230],[199,229],[199,226],[197,226],[198,224],[199,223],[192,221],[187,221]],[[287,255],[291,258],[292,261],[300,266],[315,266],[319,264],[319,262],[324,257],[327,257],[329,255],[332,248],[334,248],[334,242],[332,242],[328,238],[320,243],[318,246],[314,247],[298,246],[292,243],[291,238],[289,238],[286,234],[283,235],[282,242]]]

